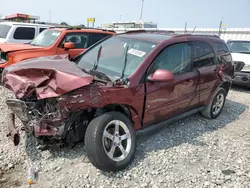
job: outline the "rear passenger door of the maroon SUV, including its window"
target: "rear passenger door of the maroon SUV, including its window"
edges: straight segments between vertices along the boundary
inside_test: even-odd
[[[211,45],[204,41],[192,42],[193,67],[200,74],[200,104],[207,104],[220,85],[218,61]]]

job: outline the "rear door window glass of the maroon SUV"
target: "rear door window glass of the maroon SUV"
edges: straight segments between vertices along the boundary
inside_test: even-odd
[[[192,42],[194,68],[206,67],[215,64],[215,54],[212,47],[206,42]]]

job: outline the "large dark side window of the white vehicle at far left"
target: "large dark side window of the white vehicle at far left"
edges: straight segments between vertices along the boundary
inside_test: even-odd
[[[14,33],[14,39],[32,40],[35,37],[35,28],[33,27],[18,27]]]

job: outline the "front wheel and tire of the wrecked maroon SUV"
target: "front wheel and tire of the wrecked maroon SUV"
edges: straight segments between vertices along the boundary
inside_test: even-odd
[[[119,112],[107,112],[88,125],[85,147],[90,162],[102,171],[119,171],[132,161],[136,134],[132,122]]]

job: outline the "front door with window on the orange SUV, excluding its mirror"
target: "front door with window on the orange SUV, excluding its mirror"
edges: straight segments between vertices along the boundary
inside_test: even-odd
[[[65,50],[63,47],[65,42],[73,42],[75,46],[74,49]],[[67,33],[58,46],[57,54],[68,53],[71,58],[75,58],[86,48],[88,48],[89,43],[90,43],[89,33],[84,33],[84,32]]]

